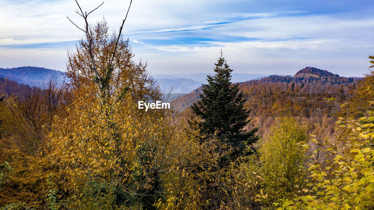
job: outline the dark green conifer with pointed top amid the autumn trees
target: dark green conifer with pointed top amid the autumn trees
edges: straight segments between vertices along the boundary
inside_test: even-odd
[[[257,142],[259,136],[255,133],[258,128],[243,130],[250,122],[248,116],[251,110],[244,108],[246,100],[239,91],[239,84],[232,85],[233,70],[222,57],[222,52],[214,71],[214,76],[207,76],[208,84],[202,85],[200,101],[191,105],[191,109],[203,119],[200,132],[212,134],[218,130],[217,136],[222,145],[231,146],[231,156],[236,156],[246,150],[246,145]]]

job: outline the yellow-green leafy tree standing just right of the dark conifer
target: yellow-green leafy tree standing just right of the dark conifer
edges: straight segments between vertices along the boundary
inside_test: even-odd
[[[304,168],[307,150],[306,125],[298,118],[279,117],[272,126],[269,140],[258,149],[262,163],[263,187],[270,205],[296,197],[305,185]]]

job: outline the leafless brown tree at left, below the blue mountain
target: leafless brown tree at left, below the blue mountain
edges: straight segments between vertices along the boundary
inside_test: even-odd
[[[54,117],[61,111],[63,89],[56,75],[41,80],[38,86],[25,86],[22,93],[12,95],[11,129],[18,137],[16,144],[27,154],[39,154],[52,130]]]

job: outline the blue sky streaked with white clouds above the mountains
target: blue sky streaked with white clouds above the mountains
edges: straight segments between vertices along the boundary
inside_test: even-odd
[[[100,0],[79,0],[91,11]],[[103,16],[118,31],[130,0],[105,0]],[[369,0],[133,0],[123,35],[135,61],[152,74],[211,73],[222,49],[234,73],[289,74],[312,66],[361,77],[374,55]],[[64,71],[84,20],[74,0],[0,0],[0,68]]]

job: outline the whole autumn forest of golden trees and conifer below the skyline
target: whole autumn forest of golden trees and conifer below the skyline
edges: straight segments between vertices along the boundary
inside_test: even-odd
[[[233,84],[221,52],[188,105],[145,112],[157,80],[88,14],[67,83],[0,78],[0,210],[374,209],[374,56]]]

